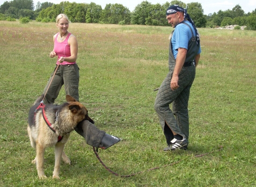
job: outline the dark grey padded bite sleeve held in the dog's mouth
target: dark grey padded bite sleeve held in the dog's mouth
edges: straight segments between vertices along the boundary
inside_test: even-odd
[[[94,121],[91,118],[90,121],[84,120],[79,122],[74,129],[79,135],[84,137],[88,145],[104,150],[120,141],[120,138],[109,135],[104,130],[99,130],[94,126]]]

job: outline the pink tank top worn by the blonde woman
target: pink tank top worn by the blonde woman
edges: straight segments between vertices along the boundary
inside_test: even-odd
[[[53,50],[54,50],[54,52],[56,52],[58,59],[60,59],[60,57],[70,57],[71,52],[70,52],[70,45],[68,44],[68,40],[69,40],[71,33],[68,34],[68,36],[65,38],[65,40],[63,42],[57,41],[59,34],[60,33],[57,33],[57,35],[55,37]],[[59,63],[58,59],[57,59],[56,64]],[[63,61],[63,63],[60,63],[60,65],[69,65],[69,64],[75,64],[75,63],[76,62],[70,63],[68,61]]]

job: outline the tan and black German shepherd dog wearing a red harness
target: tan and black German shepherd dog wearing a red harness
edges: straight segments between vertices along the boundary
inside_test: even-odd
[[[60,178],[61,157],[70,165],[70,160],[64,153],[64,145],[69,135],[77,124],[85,119],[92,121],[88,116],[85,106],[67,95],[67,103],[62,105],[43,105],[41,95],[36,99],[28,113],[28,136],[31,146],[36,149],[36,157],[32,163],[36,163],[39,178],[47,178],[43,170],[45,149],[55,146],[55,166],[53,178]]]

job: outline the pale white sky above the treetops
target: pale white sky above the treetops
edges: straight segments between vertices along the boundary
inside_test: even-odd
[[[0,5],[2,5],[5,1],[12,1],[12,0],[0,0]],[[37,2],[43,3],[43,2],[50,2],[54,4],[59,4],[63,1],[68,2],[76,2],[76,3],[88,3],[91,2],[96,3],[97,5],[101,5],[101,7],[104,9],[106,4],[122,4],[123,6],[126,6],[130,11],[133,11],[135,7],[143,2],[143,0],[33,0],[34,6]],[[146,1],[146,0],[144,0]],[[164,4],[166,2],[171,2],[170,0],[147,0],[151,4]],[[225,10],[232,10],[233,7],[235,7],[237,4],[239,4],[242,7],[242,10],[245,11],[245,13],[252,12],[256,9],[256,0],[215,0],[215,1],[209,1],[209,0],[180,0],[184,3],[192,3],[192,2],[198,2],[201,3],[203,8],[203,14],[208,15],[209,13],[218,12],[219,10],[225,11]]]

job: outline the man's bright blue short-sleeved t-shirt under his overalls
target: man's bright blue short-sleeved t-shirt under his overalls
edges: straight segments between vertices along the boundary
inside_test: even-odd
[[[196,36],[195,29],[192,26],[191,22],[185,20],[186,24],[188,24]],[[192,37],[191,29],[185,24],[179,24],[175,27],[173,35],[172,35],[172,53],[174,58],[176,59],[179,48],[188,49],[188,42]],[[201,46],[199,46],[198,54],[201,53]]]

